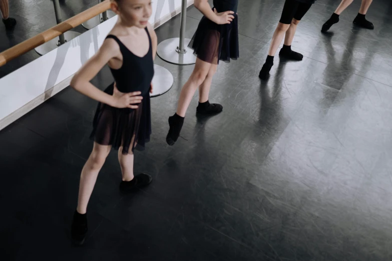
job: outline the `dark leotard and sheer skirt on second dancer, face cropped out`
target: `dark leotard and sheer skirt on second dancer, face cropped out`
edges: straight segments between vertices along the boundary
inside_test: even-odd
[[[199,59],[209,63],[236,60],[239,57],[238,0],[214,0],[213,4],[217,12],[234,11],[234,19],[229,24],[217,24],[203,16],[188,46]]]

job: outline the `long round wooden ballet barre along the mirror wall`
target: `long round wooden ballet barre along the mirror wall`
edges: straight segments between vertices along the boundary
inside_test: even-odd
[[[59,24],[52,28],[31,37],[3,52],[0,53],[0,66],[3,66],[10,60],[25,54],[26,52],[50,41],[66,31],[79,26],[83,22],[99,15],[100,13],[110,9],[110,0],[105,0]]]

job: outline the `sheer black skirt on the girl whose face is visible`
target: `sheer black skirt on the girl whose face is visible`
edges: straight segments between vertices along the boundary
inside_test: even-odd
[[[113,95],[114,83],[104,91]],[[145,143],[150,141],[151,110],[150,93],[143,96],[137,109],[115,108],[105,103],[98,103],[90,138],[101,145],[112,145],[112,148],[123,147],[122,153],[128,154],[144,150]]]

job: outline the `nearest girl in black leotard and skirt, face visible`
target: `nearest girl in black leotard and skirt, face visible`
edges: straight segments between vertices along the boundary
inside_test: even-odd
[[[99,51],[75,74],[71,86],[99,102],[91,138],[93,151],[83,167],[78,207],[71,227],[72,239],[82,244],[87,233],[87,204],[98,172],[110,149],[118,149],[122,170],[120,190],[131,192],[148,185],[152,177],[133,173],[134,148],[150,139],[150,94],[157,37],[148,23],[151,0],[112,0],[118,21]],[[106,64],[115,82],[105,91],[90,83]]]

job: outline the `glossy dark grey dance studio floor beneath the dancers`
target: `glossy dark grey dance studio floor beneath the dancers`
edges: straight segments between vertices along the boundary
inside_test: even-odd
[[[77,12],[75,2],[63,8]],[[193,66],[157,58],[175,85],[152,100],[153,139],[135,165],[155,180],[122,196],[112,152],[89,205],[83,248],[72,247],[69,229],[96,102],[67,88],[2,130],[2,259],[392,259],[392,4],[374,1],[366,17],[375,29],[365,30],[352,24],[355,1],[322,34],[339,0],[317,0],[293,42],[304,60],[276,57],[260,82],[283,2],[240,0],[241,57],[219,65],[211,89],[224,111],[196,117],[195,96],[185,139],[173,147],[165,143],[167,117]],[[200,18],[190,7],[187,37]],[[179,21],[157,29],[159,41],[177,36]],[[93,83],[111,81],[105,68]]]

